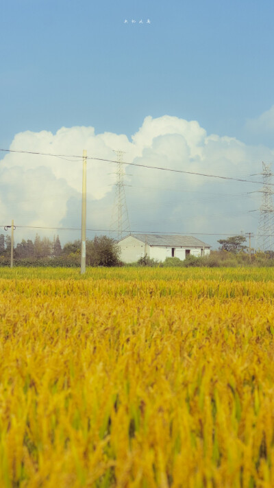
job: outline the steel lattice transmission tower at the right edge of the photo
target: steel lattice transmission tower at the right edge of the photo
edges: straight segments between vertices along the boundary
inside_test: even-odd
[[[258,248],[261,251],[273,251],[274,236],[274,207],[272,201],[271,165],[262,163],[262,205],[260,206],[260,220],[258,226]]]

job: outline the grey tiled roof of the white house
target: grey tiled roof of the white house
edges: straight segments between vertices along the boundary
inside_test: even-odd
[[[128,237],[128,235],[126,236]],[[132,234],[139,241],[149,244],[149,246],[184,246],[184,247],[210,247],[197,237],[191,235],[166,235],[166,234]],[[125,237],[123,237],[125,239]]]

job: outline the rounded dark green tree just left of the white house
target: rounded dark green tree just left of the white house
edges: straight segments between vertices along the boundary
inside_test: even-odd
[[[89,266],[117,266],[119,255],[119,245],[107,235],[86,242],[86,263]]]

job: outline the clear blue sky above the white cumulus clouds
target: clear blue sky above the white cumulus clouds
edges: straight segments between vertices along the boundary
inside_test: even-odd
[[[246,119],[274,103],[273,10],[266,0],[2,0],[1,146],[61,126],[130,136],[165,114],[248,140]]]

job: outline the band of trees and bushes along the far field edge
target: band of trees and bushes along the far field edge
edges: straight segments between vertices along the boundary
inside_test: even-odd
[[[178,257],[167,257],[164,262],[158,262],[148,256],[141,257],[138,262],[125,264],[120,259],[119,245],[114,239],[106,235],[86,241],[87,266],[126,266],[126,267],[159,267],[159,268],[192,268],[208,267],[237,268],[242,266],[274,266],[274,252],[254,251],[245,245],[246,239],[242,235],[235,235],[218,241],[219,251],[212,251],[210,255],[195,257],[189,255],[184,261]],[[0,235],[0,266],[10,266],[10,235]],[[80,266],[81,242],[75,240],[67,242],[62,248],[60,238],[48,237],[42,239],[38,234],[34,242],[22,240],[14,248],[14,266],[41,266],[46,268],[78,268]]]

